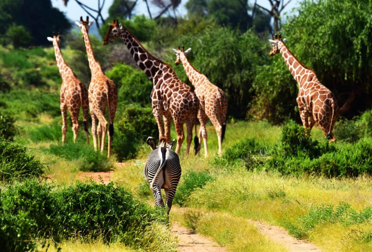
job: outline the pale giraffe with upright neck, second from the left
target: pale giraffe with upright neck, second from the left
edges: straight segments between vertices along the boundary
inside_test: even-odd
[[[105,73],[102,71],[101,65],[94,58],[92,45],[89,40],[89,27],[93,25],[93,22],[89,23],[89,17],[87,16],[86,21],[83,21],[83,17],[80,17],[80,23],[75,22],[80,27],[81,33],[85,42],[87,50],[89,68],[92,72],[92,78],[90,80],[88,89],[89,109],[92,116],[92,135],[94,149],[97,150],[97,132],[98,132],[98,145],[101,148],[101,152],[105,149],[105,136],[106,130],[108,130],[109,142],[107,156],[111,154],[111,142],[114,134],[114,118],[116,113],[116,107],[118,106],[118,91],[116,90],[115,84],[110,80]],[[106,106],[109,112],[109,127],[108,122],[105,118]],[[98,126],[96,127],[96,120],[98,119]]]

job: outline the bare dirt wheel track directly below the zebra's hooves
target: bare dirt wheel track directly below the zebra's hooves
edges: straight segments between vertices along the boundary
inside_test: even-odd
[[[171,233],[178,236],[178,251],[180,252],[225,252],[224,247],[216,242],[201,236],[186,227],[180,226],[177,222],[172,225]]]

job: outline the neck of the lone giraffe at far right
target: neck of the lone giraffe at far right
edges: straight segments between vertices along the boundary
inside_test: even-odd
[[[291,51],[289,51],[289,49],[285,46],[285,44],[282,41],[278,42],[278,46],[280,54],[282,54],[282,57],[285,61],[285,64],[287,65],[292,76],[295,78],[296,82],[301,88],[303,85],[301,80],[304,77],[304,75],[309,74],[310,72],[313,73],[313,71],[310,68],[307,68],[304,65],[302,65],[302,63],[292,54]]]

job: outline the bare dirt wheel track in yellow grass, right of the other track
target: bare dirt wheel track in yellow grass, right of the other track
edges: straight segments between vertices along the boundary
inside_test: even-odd
[[[321,252],[311,242],[306,240],[298,240],[288,235],[287,230],[282,227],[273,226],[267,223],[262,223],[256,220],[251,220],[257,227],[260,228],[261,232],[267,235],[270,239],[288,248],[291,252]]]

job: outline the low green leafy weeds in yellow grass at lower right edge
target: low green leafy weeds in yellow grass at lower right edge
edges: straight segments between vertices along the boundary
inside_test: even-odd
[[[312,207],[307,214],[298,217],[295,224],[289,226],[289,233],[298,239],[307,239],[309,233],[319,224],[341,223],[350,226],[371,219],[371,207],[365,207],[358,212],[345,202],[340,202],[336,209],[332,204],[322,204]]]

